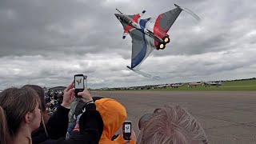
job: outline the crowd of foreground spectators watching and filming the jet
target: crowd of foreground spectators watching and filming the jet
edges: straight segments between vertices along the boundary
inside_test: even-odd
[[[47,93],[25,85],[0,93],[0,144],[206,144],[200,123],[182,106],[156,108],[139,119],[139,133],[123,138],[126,107],[112,98],[74,98],[74,82],[63,92]]]

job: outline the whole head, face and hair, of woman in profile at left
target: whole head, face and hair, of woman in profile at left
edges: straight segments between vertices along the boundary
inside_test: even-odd
[[[29,87],[9,88],[0,93],[0,143],[10,144],[19,130],[37,129],[41,122],[40,98]]]

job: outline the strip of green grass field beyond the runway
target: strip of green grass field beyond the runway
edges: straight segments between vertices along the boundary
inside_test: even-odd
[[[166,90],[189,90],[189,91],[256,91],[256,79],[250,80],[241,80],[241,81],[231,81],[231,82],[223,82],[222,86],[196,86],[190,88],[188,86],[179,86],[176,89],[167,87],[166,89],[154,89],[153,91],[166,91]],[[149,91],[149,90],[126,90],[126,91]]]

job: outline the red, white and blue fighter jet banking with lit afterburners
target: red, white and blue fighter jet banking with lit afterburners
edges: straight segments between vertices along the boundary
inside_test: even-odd
[[[114,15],[122,23],[124,29],[122,38],[126,38],[127,34],[130,34],[132,38],[131,66],[127,66],[130,70],[138,68],[154,49],[164,50],[166,48],[166,44],[170,42],[170,35],[167,32],[173,26],[182,10],[200,20],[191,10],[176,4],[174,6],[176,6],[175,9],[159,14],[156,18],[146,19],[141,18],[146,13],[146,10],[143,10],[140,14],[126,15],[116,9],[119,14]]]

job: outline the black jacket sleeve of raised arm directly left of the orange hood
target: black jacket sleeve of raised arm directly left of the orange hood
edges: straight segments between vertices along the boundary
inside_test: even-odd
[[[64,138],[48,139],[41,144],[98,144],[102,136],[103,121],[94,103],[86,105],[86,111],[79,119],[79,129],[78,134],[67,140]]]

